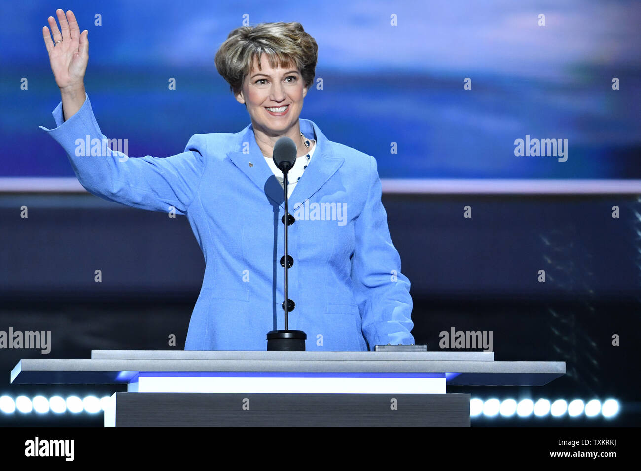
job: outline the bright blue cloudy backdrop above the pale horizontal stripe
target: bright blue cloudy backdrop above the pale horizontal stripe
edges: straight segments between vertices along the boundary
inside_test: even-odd
[[[41,29],[61,6],[89,31],[97,121],[131,156],[249,124],[213,56],[244,20],[299,21],[319,44],[322,79],[301,117],[374,155],[381,178],[641,178],[641,8],[586,0],[17,4],[0,29],[0,177],[74,176],[38,129],[54,126],[60,101]],[[526,135],[567,139],[567,161],[515,156]]]

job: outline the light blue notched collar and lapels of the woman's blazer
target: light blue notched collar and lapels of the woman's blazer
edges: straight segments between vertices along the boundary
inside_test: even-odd
[[[313,121],[299,119],[299,126],[305,136],[316,140],[316,149],[312,159],[290,197],[290,202],[303,204],[306,199],[312,197],[337,172],[345,158],[333,154],[329,141]],[[283,187],[276,180],[265,161],[265,157],[263,157],[260,147],[256,144],[253,126],[249,124],[239,134],[240,142],[238,147],[241,150],[228,152],[227,156],[238,169],[242,170],[247,178],[251,179],[258,188],[265,192],[265,195],[274,204],[279,204],[283,208]],[[243,152],[242,149],[248,149],[249,152]],[[252,165],[249,165],[249,162]],[[290,209],[290,212],[294,209],[296,208]]]

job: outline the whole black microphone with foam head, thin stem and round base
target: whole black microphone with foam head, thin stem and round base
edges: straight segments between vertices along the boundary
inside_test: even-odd
[[[293,311],[296,303],[289,299],[288,295],[288,279],[287,269],[290,266],[290,260],[294,263],[294,259],[290,258],[287,251],[287,227],[289,226],[289,209],[287,198],[287,173],[294,167],[296,163],[297,148],[294,141],[288,137],[281,137],[274,145],[274,163],[276,167],[283,172],[283,191],[285,191],[285,216],[283,223],[285,224],[285,256],[281,260],[281,265],[285,267],[285,301],[283,301],[283,311],[285,311],[285,329],[274,330],[267,333],[267,350],[275,351],[305,351],[305,340],[307,334],[303,331],[289,330],[288,329],[288,313]],[[284,263],[283,263],[284,260]]]

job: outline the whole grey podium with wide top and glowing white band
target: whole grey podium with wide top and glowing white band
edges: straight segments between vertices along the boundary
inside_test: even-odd
[[[126,384],[105,427],[469,427],[470,394],[449,385],[543,386],[563,361],[494,352],[107,351],[21,359],[12,384]]]

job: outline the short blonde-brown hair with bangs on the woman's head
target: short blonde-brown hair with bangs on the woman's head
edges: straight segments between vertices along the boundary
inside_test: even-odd
[[[318,45],[299,22],[259,23],[240,26],[229,33],[215,56],[216,69],[229,83],[229,90],[237,95],[247,75],[251,73],[254,57],[260,60],[267,54],[271,67],[296,67],[305,87],[314,79]]]

